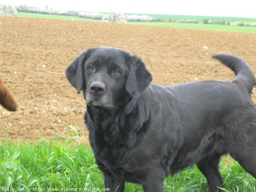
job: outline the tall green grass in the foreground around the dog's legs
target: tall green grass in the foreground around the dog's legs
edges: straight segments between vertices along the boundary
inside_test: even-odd
[[[247,174],[238,163],[224,158],[221,173],[227,192],[256,192],[256,180]],[[225,163],[226,161],[229,163]],[[0,143],[0,191],[1,187],[20,188],[32,192],[49,187],[104,188],[102,173],[95,164],[91,149],[72,142],[41,140],[29,142]],[[165,192],[204,192],[207,181],[194,166],[165,180]],[[35,191],[35,190],[34,190]],[[140,185],[125,184],[125,192],[143,192]]]

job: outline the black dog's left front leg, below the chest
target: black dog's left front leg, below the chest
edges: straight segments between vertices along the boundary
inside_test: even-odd
[[[103,173],[105,188],[109,189],[109,192],[124,192],[125,180],[118,178],[111,173]]]

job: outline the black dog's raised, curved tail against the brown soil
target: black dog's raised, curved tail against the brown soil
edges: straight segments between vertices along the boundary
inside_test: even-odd
[[[226,54],[213,55],[212,58],[218,59],[235,72],[236,77],[232,82],[244,86],[249,94],[252,93],[253,86],[255,85],[255,77],[249,65],[244,60],[237,56]]]

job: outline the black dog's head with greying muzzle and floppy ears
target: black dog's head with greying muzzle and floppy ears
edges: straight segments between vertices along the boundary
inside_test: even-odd
[[[124,96],[138,99],[152,77],[137,55],[113,47],[88,49],[66,70],[77,93],[83,91],[87,105],[111,109]]]

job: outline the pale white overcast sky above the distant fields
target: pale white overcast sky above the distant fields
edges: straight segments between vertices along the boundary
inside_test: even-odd
[[[256,0],[1,0],[0,4],[49,6],[83,12],[153,13],[256,18]]]

